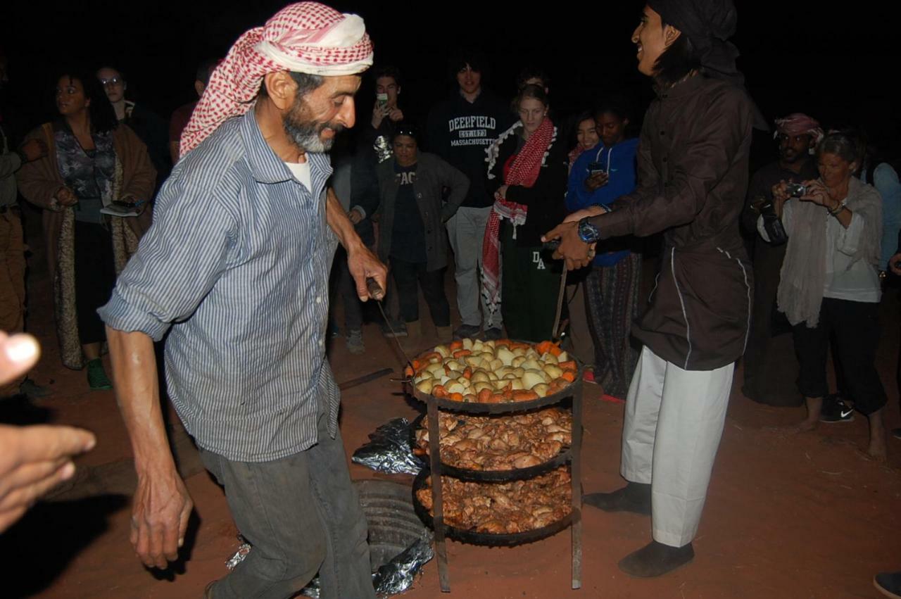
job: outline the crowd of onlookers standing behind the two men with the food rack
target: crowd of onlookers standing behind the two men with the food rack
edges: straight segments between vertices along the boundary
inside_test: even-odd
[[[198,66],[198,97],[216,64]],[[478,51],[456,52],[449,67],[455,89],[423,123],[405,115],[400,69],[371,69],[375,97],[357,98],[366,115],[332,150],[332,188],[391,273],[383,322],[363,309],[339,254],[332,286],[344,322],[341,331],[332,319],[332,335],[341,331],[355,354],[365,351],[368,318],[387,336],[418,336],[421,289],[440,339],[562,336],[589,367],[587,380],[623,398],[637,359],[630,325],[645,304],[639,297],[642,249],[653,244],[599,244],[591,266],[565,279],[558,318],[561,267],[541,236],[567,213],[608,206],[635,188],[641,177],[636,111],[611,97],[578,114],[557,114],[541,68],[524,68],[518,93],[507,102],[483,85],[487,64]],[[68,70],[57,81],[58,113],[20,143],[3,138],[0,222],[10,284],[0,298],[0,328],[23,328],[18,193],[43,209],[62,361],[86,368],[92,388],[110,387],[96,309],[150,226],[153,197],[177,163],[179,137],[196,105],[180,106],[167,123],[127,99],[127,90],[118,68]],[[742,216],[756,282],[743,392],[772,405],[799,405],[805,397],[804,428],[850,420],[853,406],[870,417],[878,439],[886,395],[874,366],[876,306],[895,269],[897,165],[859,132],[827,134],[800,113],[775,125],[778,156],[753,173]],[[824,219],[842,202],[865,208],[848,223],[841,213]],[[59,211],[68,205],[76,209]],[[445,291],[451,264],[455,298]],[[830,347],[838,389],[826,385]],[[5,395],[22,383],[7,386]],[[884,452],[884,446],[870,449]]]

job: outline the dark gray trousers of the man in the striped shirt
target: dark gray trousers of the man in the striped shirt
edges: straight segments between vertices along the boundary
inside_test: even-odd
[[[323,599],[374,599],[367,523],[359,507],[341,433],[326,416],[319,442],[271,462],[238,462],[201,450],[205,467],[225,487],[232,518],[253,549],[212,596],[292,597],[319,573]]]

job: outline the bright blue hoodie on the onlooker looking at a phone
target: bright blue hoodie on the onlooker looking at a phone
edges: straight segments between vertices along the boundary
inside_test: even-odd
[[[569,185],[566,192],[566,207],[574,213],[588,206],[612,204],[621,195],[632,193],[635,189],[635,153],[638,151],[638,138],[623,140],[613,148],[605,148],[601,141],[591,150],[582,152],[576,163],[569,170]],[[588,191],[585,181],[588,178],[588,165],[600,162],[610,177],[607,184]],[[629,254],[629,250],[608,251],[596,256],[592,264],[596,267],[613,266]]]

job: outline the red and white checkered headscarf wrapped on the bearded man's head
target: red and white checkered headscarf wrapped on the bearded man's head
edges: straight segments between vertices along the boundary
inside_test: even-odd
[[[318,2],[288,5],[234,42],[191,114],[179,153],[194,150],[226,119],[250,110],[268,73],[290,70],[334,77],[371,66],[372,42],[358,15],[341,14]]]

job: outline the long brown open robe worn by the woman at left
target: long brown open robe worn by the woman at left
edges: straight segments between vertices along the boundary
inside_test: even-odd
[[[16,180],[23,197],[43,208],[42,225],[53,281],[59,355],[66,367],[78,369],[84,366],[85,360],[78,338],[75,304],[75,211],[60,206],[54,197],[65,182],[59,175],[50,123],[44,123],[25,137],[26,141],[32,139],[47,143],[47,156],[24,164],[16,173]],[[157,173],[150,163],[147,147],[123,124],[113,132],[113,145],[116,154],[113,197],[120,199],[130,195],[150,201]],[[115,268],[119,273],[138,249],[141,235],[150,227],[150,210],[131,218],[107,216],[106,224],[113,238]]]

